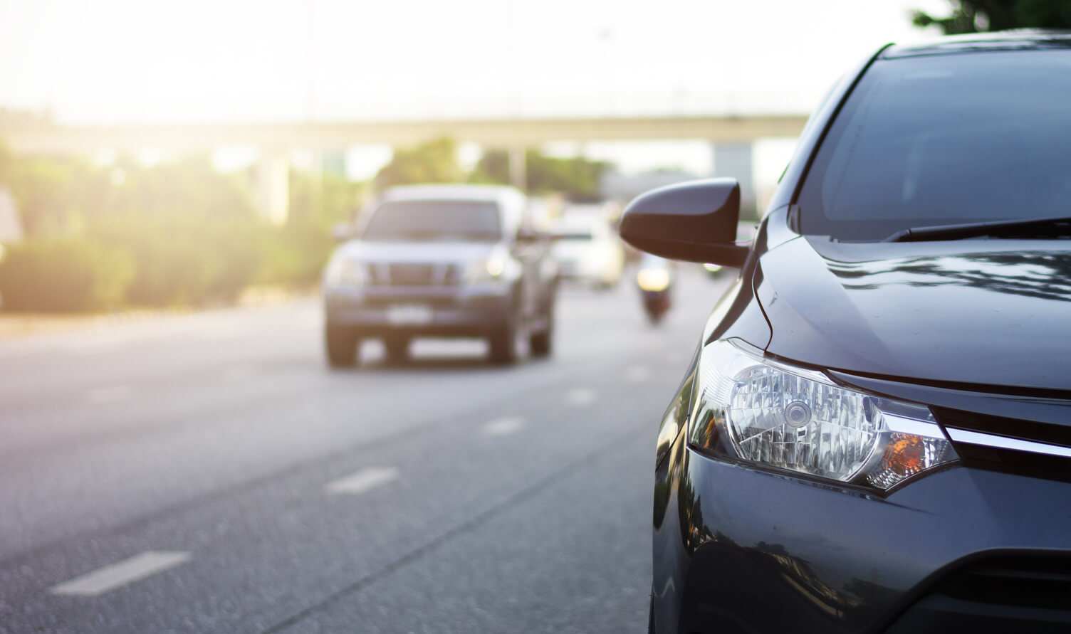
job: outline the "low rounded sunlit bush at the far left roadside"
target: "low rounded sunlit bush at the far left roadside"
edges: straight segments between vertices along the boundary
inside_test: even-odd
[[[87,240],[29,241],[0,260],[5,311],[99,311],[122,305],[134,277],[129,255]]]

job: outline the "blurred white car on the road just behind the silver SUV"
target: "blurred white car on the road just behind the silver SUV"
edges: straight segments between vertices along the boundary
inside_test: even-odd
[[[624,268],[624,247],[617,232],[599,216],[565,216],[554,231],[552,255],[562,280],[601,288],[616,286]]]

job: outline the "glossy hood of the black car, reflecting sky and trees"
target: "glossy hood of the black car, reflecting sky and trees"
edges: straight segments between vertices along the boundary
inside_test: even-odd
[[[772,354],[923,382],[1071,389],[1071,244],[834,243],[759,258]]]

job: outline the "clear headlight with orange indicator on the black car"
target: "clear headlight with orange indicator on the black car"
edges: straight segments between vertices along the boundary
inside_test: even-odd
[[[930,409],[718,341],[699,358],[689,442],[739,459],[887,489],[959,459]]]

